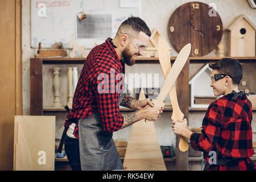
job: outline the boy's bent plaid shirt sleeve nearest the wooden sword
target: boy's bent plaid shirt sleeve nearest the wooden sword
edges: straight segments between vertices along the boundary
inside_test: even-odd
[[[214,105],[210,105],[203,119],[202,134],[193,133],[190,138],[191,147],[202,152],[212,150],[220,139],[220,122],[222,114]]]

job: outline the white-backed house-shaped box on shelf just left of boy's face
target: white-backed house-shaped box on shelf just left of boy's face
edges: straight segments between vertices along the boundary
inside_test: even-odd
[[[206,64],[189,80],[188,84],[191,90],[190,102],[192,108],[207,108],[210,103],[216,100],[216,96],[214,96],[212,88],[210,88],[211,71],[209,64]]]

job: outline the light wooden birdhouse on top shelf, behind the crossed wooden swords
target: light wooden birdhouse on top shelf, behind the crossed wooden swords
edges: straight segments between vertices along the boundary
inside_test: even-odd
[[[144,56],[143,57],[158,57],[158,38],[159,36],[163,38],[163,36],[160,34],[158,28],[155,28],[155,30],[152,32],[150,36],[150,41],[148,44],[148,48],[144,51]],[[167,44],[169,51],[172,51],[172,48],[170,47],[169,44]]]

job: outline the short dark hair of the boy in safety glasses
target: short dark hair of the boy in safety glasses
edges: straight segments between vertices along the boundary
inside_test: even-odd
[[[232,77],[234,85],[239,85],[243,78],[242,66],[236,59],[224,58],[218,60],[216,63],[210,63],[209,67],[212,69],[217,69],[218,73],[220,74],[225,74]]]

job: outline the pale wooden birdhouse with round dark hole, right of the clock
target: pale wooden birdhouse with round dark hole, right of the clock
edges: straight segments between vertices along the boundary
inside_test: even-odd
[[[228,27],[229,56],[255,56],[255,25],[242,14]]]

